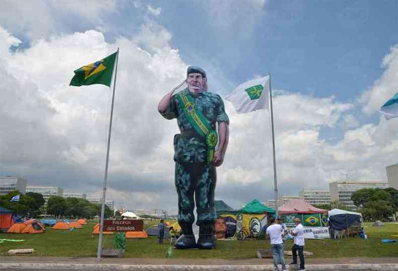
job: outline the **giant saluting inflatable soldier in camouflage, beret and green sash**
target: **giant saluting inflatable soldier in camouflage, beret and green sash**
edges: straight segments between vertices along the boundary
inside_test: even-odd
[[[174,94],[184,83],[188,87]],[[218,94],[208,91],[205,71],[189,66],[186,80],[160,100],[158,110],[166,119],[177,118],[181,132],[174,136],[174,161],[178,224],[183,235],[177,239],[175,248],[212,249],[216,245],[213,229],[217,219],[216,167],[224,161],[229,133],[224,102]],[[199,226],[197,244],[192,232],[195,202]]]

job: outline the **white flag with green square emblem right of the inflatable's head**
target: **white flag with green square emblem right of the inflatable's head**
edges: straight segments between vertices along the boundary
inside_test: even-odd
[[[238,113],[268,109],[270,87],[270,76],[268,75],[240,84],[225,99],[234,105]]]

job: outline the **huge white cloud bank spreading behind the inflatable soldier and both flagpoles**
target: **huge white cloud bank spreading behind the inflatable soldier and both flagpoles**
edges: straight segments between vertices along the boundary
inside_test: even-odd
[[[10,46],[20,41],[11,33],[0,27],[0,91],[6,97],[0,101],[2,170],[34,184],[100,195],[110,91],[100,85],[70,87],[69,82],[78,67],[120,47],[108,198],[116,207],[175,210],[172,138],[178,130],[175,120],[159,115],[157,103],[181,82],[187,63],[170,45],[170,32],[148,21],[132,38],[109,42],[103,33],[88,30],[38,38],[15,52]],[[384,58],[386,72],[375,84],[393,82],[389,73],[395,53],[394,47]],[[275,93],[282,194],[297,194],[303,186],[327,188],[328,181],[342,179],[346,172],[353,179],[385,180],[385,166],[396,160],[398,119],[360,126],[349,114],[351,103]],[[218,169],[216,197],[235,207],[254,197],[273,198],[270,113],[237,114],[229,102],[226,111],[230,143]],[[322,127],[341,126],[349,130],[339,142],[320,137]]]

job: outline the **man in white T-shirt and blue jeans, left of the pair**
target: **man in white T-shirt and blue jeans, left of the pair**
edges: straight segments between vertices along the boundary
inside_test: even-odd
[[[282,226],[275,223],[275,218],[271,218],[270,222],[272,225],[267,228],[267,236],[271,239],[271,249],[274,256],[274,270],[279,271],[278,264],[281,262],[283,271],[286,271],[282,241]]]

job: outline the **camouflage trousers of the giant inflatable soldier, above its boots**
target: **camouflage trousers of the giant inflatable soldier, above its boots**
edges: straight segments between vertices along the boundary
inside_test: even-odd
[[[214,190],[215,166],[200,163],[175,163],[175,187],[178,193],[178,222],[193,224],[196,202],[197,225],[213,223],[217,219]],[[194,196],[194,197],[193,197]]]

